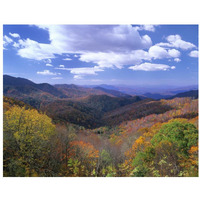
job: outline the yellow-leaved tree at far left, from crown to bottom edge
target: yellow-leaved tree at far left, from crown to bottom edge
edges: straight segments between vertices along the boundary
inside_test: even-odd
[[[45,114],[13,106],[4,113],[4,176],[49,173],[49,138],[55,125]]]

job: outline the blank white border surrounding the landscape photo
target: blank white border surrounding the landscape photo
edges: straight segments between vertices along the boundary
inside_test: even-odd
[[[6,0],[3,24],[199,24],[198,0]],[[0,36],[2,38],[2,27]],[[2,47],[2,39],[0,40]],[[1,50],[2,52],[2,50]],[[1,53],[3,66],[3,56]],[[1,68],[1,73],[2,73]],[[1,76],[2,77],[2,76]],[[0,82],[1,91],[2,78]],[[2,92],[1,92],[2,95]],[[2,105],[2,96],[1,96]],[[2,106],[1,106],[2,132]],[[2,135],[1,154],[2,161]],[[2,163],[2,162],[1,162]],[[1,167],[2,176],[2,167]],[[1,199],[198,199],[199,178],[2,178]],[[2,198],[3,197],[3,198]]]

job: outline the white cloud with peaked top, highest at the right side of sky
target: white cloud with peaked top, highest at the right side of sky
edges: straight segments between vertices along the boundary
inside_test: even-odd
[[[180,48],[183,50],[196,48],[196,46],[194,44],[192,44],[191,42],[186,42],[186,41],[182,40],[180,35],[169,35],[166,38],[166,40],[168,41],[168,43],[161,42],[156,45],[157,46],[165,46],[165,47],[175,47],[175,48]]]

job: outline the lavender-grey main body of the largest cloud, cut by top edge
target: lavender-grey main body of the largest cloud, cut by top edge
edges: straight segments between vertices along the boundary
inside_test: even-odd
[[[49,25],[51,44],[66,52],[123,52],[149,48],[149,36],[140,36],[131,25]]]

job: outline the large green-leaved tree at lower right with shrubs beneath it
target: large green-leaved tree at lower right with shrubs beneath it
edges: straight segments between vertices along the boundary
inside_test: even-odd
[[[172,120],[153,136],[151,146],[137,153],[133,160],[132,175],[184,176],[192,168],[191,162],[186,165],[189,150],[197,143],[198,131],[193,124],[187,120]]]

